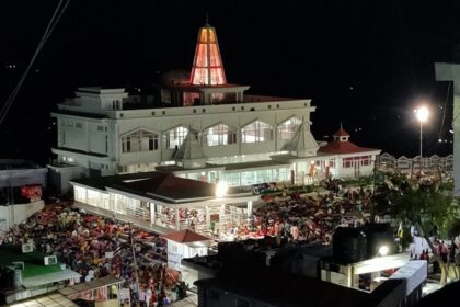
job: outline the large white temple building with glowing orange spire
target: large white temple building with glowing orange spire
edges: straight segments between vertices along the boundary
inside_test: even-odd
[[[306,184],[369,174],[380,154],[352,144],[343,128],[320,146],[309,99],[252,95],[249,86],[228,83],[209,24],[198,31],[191,73],[166,72],[156,89],[129,95],[85,87],[58,104],[49,170],[64,192],[80,177],[150,171],[229,186]]]

